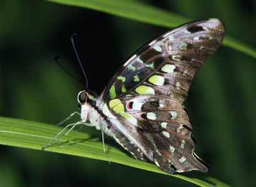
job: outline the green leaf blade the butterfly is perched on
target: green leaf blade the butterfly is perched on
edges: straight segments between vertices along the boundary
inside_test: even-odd
[[[61,130],[62,128],[57,127],[56,125],[0,117],[0,144],[41,150],[42,147]],[[64,133],[66,132],[63,132],[62,135],[64,135]],[[119,149],[113,145],[105,143],[105,148],[107,156],[111,162],[169,175],[152,163],[135,160],[128,152],[123,152],[121,146],[121,149]],[[44,151],[107,161],[103,151],[101,138],[78,132],[77,130],[72,130],[66,137],[57,141],[54,145],[46,148]],[[195,173],[197,172],[199,171],[195,171]],[[224,183],[201,173],[199,175],[182,173],[182,175],[171,176],[189,181],[190,183],[199,186],[227,186]]]

